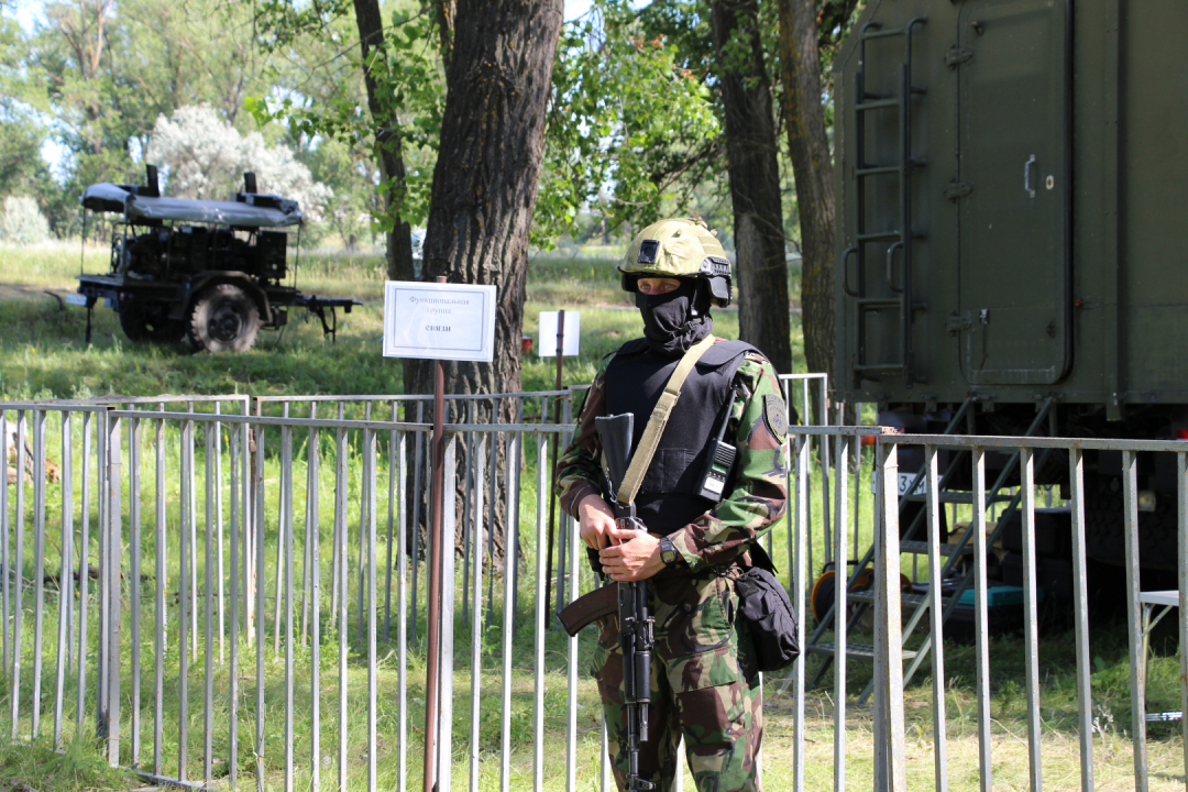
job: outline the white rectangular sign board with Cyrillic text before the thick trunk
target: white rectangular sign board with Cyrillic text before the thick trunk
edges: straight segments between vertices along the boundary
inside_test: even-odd
[[[494,286],[384,284],[385,357],[489,363],[494,349]]]

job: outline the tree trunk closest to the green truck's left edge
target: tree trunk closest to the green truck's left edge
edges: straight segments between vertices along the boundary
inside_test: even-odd
[[[821,107],[814,0],[778,0],[784,128],[801,216],[801,305],[810,372],[834,385],[833,161]],[[815,398],[815,397],[814,397]]]

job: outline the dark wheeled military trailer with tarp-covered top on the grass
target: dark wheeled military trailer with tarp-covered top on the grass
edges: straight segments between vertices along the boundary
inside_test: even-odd
[[[157,169],[146,170],[144,185],[93,184],[81,197],[90,211],[122,216],[113,226],[109,272],[78,275],[78,293],[70,296],[87,308],[88,343],[100,300],[120,315],[132,341],[189,337],[211,353],[251,349],[260,328],[285,325],[289,308],[317,315],[333,338],[336,309],[349,313],[362,304],[307,296],[285,284],[290,274],[296,280],[296,267],[290,273],[290,235],[283,229],[297,229],[299,256],[301,208],[259,192],[254,173],[244,175],[244,190],[230,201],[198,201],[162,196]]]

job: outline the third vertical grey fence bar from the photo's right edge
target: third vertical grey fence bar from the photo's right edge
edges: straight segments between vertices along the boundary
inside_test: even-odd
[[[1182,464],[1183,455],[1177,456]],[[1085,458],[1079,448],[1068,450],[1068,473],[1073,519],[1073,598],[1076,608],[1073,615],[1076,640],[1076,723],[1081,742],[1081,792],[1093,792],[1093,677],[1089,670],[1089,595],[1086,590],[1085,562]],[[1183,481],[1183,475],[1180,476],[1180,481]],[[1181,509],[1181,520],[1183,514]],[[1188,653],[1183,654],[1188,658]],[[1188,676],[1183,678],[1188,679]],[[1188,686],[1184,686],[1184,690],[1188,691]]]

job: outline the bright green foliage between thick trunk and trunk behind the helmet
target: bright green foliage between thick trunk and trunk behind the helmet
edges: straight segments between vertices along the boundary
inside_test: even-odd
[[[533,242],[573,229],[583,207],[612,226],[658,217],[690,184],[687,164],[715,147],[719,123],[677,45],[649,37],[625,0],[568,23],[554,66]]]

